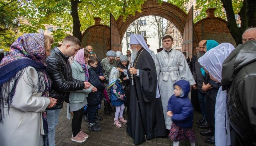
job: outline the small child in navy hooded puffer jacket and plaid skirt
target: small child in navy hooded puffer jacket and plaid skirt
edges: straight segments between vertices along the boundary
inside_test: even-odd
[[[168,138],[173,146],[178,146],[180,140],[188,140],[195,146],[193,126],[193,106],[188,98],[190,85],[188,81],[180,80],[174,83],[174,94],[168,101],[167,115],[172,117],[172,126]]]

